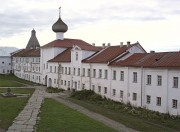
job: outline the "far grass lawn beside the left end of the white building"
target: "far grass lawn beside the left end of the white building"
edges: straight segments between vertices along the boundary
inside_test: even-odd
[[[2,74],[0,74],[0,86],[1,86],[1,84],[3,84],[3,81],[7,81],[8,83],[10,82],[10,83],[15,83],[15,82],[19,82],[19,84],[20,83],[23,83],[23,84],[28,84],[28,85],[35,85],[35,83],[33,83],[33,82],[30,82],[30,81],[27,81],[27,80],[24,80],[24,79],[20,79],[20,78],[18,78],[18,77],[16,77],[16,76],[14,76],[14,75],[2,75]],[[8,83],[5,83],[5,84],[7,84],[8,85]],[[4,84],[4,85],[5,85]],[[17,85],[19,85],[19,84],[17,84]],[[21,84],[22,85],[22,84]],[[13,84],[12,85],[10,85],[10,86],[14,86]],[[10,86],[7,86],[7,87],[10,87]],[[15,85],[16,86],[16,85]],[[3,86],[4,87],[4,86]]]

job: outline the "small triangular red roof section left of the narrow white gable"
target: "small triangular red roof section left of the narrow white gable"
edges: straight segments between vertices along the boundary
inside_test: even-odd
[[[48,62],[71,62],[71,49],[68,48]]]

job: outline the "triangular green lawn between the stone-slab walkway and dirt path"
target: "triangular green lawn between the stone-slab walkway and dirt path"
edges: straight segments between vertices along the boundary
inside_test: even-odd
[[[53,99],[45,99],[41,108],[37,132],[114,132],[97,122]]]

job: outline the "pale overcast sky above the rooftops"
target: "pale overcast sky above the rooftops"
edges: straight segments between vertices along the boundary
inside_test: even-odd
[[[66,38],[102,45],[139,42],[146,51],[180,50],[180,0],[0,0],[0,46],[25,48],[36,30],[40,45],[55,39],[61,17]]]

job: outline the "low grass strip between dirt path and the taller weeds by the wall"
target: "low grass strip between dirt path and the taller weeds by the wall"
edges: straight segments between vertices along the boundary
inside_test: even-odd
[[[177,120],[169,120],[164,123],[158,121],[148,121],[147,119],[142,119],[136,116],[132,116],[127,112],[119,112],[118,110],[111,110],[104,108],[98,104],[92,104],[88,101],[82,101],[70,98],[70,101],[77,103],[91,111],[102,114],[110,119],[118,121],[130,128],[152,132],[152,131],[163,131],[163,132],[171,132],[171,131],[180,131],[180,119]]]

